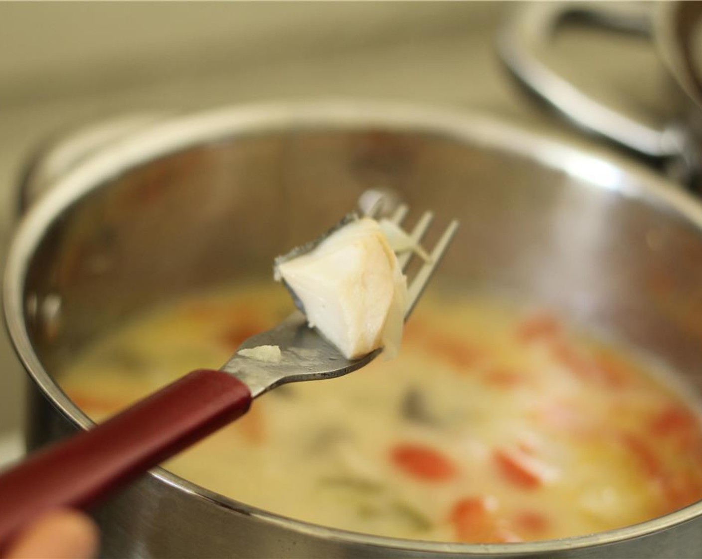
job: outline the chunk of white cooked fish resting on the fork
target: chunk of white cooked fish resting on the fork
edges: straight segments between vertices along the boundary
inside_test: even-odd
[[[346,217],[319,242],[276,260],[275,275],[347,359],[384,347],[397,354],[407,304],[406,278],[378,221]]]

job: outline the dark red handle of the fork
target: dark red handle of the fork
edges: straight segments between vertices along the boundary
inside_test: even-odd
[[[0,476],[0,551],[46,510],[85,509],[242,416],[249,387],[199,369]]]

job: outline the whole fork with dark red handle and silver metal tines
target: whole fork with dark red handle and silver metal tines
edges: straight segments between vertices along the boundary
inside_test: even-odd
[[[392,219],[399,224],[407,208]],[[425,213],[411,236],[417,242],[429,228]],[[452,221],[409,283],[409,307],[415,306],[456,232]],[[406,269],[411,253],[399,257]],[[405,316],[405,318],[406,318]],[[241,348],[277,345],[282,359],[263,363],[234,354],[219,371],[199,369],[154,392],[95,428],[42,450],[0,476],[0,554],[38,515],[52,508],[91,508],[154,465],[242,416],[253,398],[298,380],[338,377],[369,364],[380,349],[350,361],[307,327],[295,312]],[[240,348],[240,349],[241,349]]]

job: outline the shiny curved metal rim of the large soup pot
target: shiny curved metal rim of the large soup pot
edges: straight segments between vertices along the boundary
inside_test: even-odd
[[[105,181],[137,165],[230,137],[270,134],[291,129],[385,129],[425,134],[516,153],[546,167],[562,170],[595,187],[618,191],[675,212],[702,230],[702,205],[679,187],[623,156],[599,148],[548,138],[494,118],[378,101],[297,101],[237,105],[203,113],[173,117],[140,130],[98,150],[62,176],[27,212],[18,226],[6,260],[3,300],[6,328],[20,361],[39,390],[70,423],[82,430],[94,423],[82,412],[44,369],[34,352],[25,323],[24,285],[28,264],[48,226],[71,205]],[[635,185],[634,185],[635,183]],[[218,506],[250,515],[293,532],[349,544],[395,548],[433,554],[496,555],[552,553],[588,546],[614,544],[647,536],[702,515],[702,501],[637,525],[564,539],[515,544],[461,544],[373,536],[314,525],[246,505],[189,482],[162,468],[150,470],[172,487]]]

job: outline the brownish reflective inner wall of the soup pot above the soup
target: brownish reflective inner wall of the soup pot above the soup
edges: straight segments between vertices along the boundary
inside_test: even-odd
[[[152,304],[239,278],[270,281],[274,256],[382,187],[413,210],[435,210],[439,223],[461,220],[432,288],[545,304],[702,385],[702,235],[637,195],[633,176],[612,180],[428,131],[232,136],[127,169],[55,221],[27,278],[30,335],[59,371]]]

